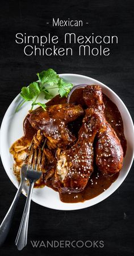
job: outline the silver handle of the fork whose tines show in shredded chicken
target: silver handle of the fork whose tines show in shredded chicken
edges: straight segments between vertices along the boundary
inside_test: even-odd
[[[15,245],[17,246],[18,250],[22,250],[23,247],[27,245],[28,220],[30,216],[30,204],[34,184],[35,182],[30,182],[30,188],[28,191],[26,205],[24,206],[22,221],[20,222],[19,231],[15,239]]]

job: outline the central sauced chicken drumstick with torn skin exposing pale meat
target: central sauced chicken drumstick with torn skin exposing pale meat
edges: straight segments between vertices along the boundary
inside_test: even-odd
[[[93,173],[93,142],[103,123],[98,112],[86,109],[86,115],[78,132],[77,143],[66,151],[57,151],[57,168],[53,186],[59,192],[81,192]]]

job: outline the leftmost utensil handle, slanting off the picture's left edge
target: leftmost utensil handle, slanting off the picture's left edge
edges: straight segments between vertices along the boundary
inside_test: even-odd
[[[20,183],[18,191],[16,192],[16,195],[14,197],[14,200],[12,201],[12,204],[0,226],[0,246],[3,244],[3,242],[5,242],[7,234],[9,233],[12,217],[14,215],[14,211],[25,182],[26,180]]]

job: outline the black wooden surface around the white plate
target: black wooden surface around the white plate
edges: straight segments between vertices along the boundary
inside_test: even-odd
[[[76,73],[100,80],[119,95],[132,118],[133,111],[133,7],[134,2],[100,1],[4,1],[1,3],[1,121],[7,107],[20,88],[36,80],[36,73],[54,68],[58,73]],[[78,28],[52,28],[46,25],[53,18],[82,19],[89,22]],[[15,43],[17,32],[43,35],[53,32],[77,34],[117,35],[119,43],[110,46],[110,56],[33,57],[24,56],[23,47]],[[118,190],[98,205],[77,211],[58,211],[31,203],[28,245],[18,251],[14,245],[26,198],[21,196],[12,222],[10,234],[1,247],[1,255],[133,255],[133,167]],[[3,220],[16,188],[11,183],[1,162],[0,221]],[[33,249],[31,239],[39,240],[103,240],[103,248]]]

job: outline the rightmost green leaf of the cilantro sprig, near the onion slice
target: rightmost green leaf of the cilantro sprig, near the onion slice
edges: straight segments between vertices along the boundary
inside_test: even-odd
[[[59,79],[58,81],[58,92],[60,94],[61,97],[67,97],[70,90],[72,89],[73,84],[72,83],[67,83],[65,82],[62,78]]]

